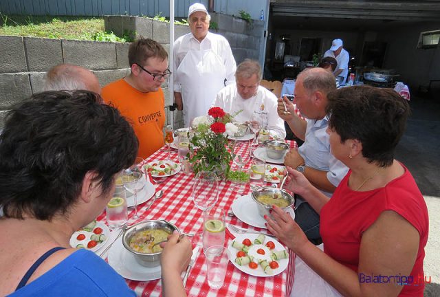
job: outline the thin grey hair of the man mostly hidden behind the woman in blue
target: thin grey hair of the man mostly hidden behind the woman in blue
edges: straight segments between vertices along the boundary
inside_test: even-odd
[[[72,64],[59,64],[52,67],[45,76],[43,91],[87,89],[80,69],[87,70]]]

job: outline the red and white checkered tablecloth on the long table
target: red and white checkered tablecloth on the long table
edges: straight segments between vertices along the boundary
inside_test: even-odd
[[[297,147],[296,142],[287,142],[291,144],[291,148]],[[248,145],[249,143],[245,142],[240,149],[244,151]],[[167,155],[166,149],[162,148],[148,157],[146,162],[166,159]],[[177,151],[172,149],[170,157],[177,162]],[[166,181],[155,184],[156,190],[164,191],[164,197],[155,201],[148,211],[145,211],[145,208],[149,203],[141,204],[138,207],[140,219],[137,221],[164,219],[177,225],[181,232],[192,234],[202,232],[203,212],[195,206],[190,197],[193,179],[194,173],[185,175],[181,171],[176,175],[167,177]],[[232,190],[233,187],[234,185],[230,181],[221,181],[219,183],[219,201],[217,201],[216,206],[223,208],[225,212],[230,210],[234,199],[240,196],[239,193]],[[250,192],[249,186],[247,187],[245,192]],[[134,210],[129,209],[129,223],[137,222],[131,219],[133,214]],[[104,213],[98,217],[98,221],[105,222]],[[236,217],[226,217],[226,223],[232,223],[233,225],[256,231],[261,230],[261,228],[254,228],[247,223],[243,223]],[[226,241],[229,243],[232,238],[228,235],[229,232],[226,232],[226,234]],[[294,263],[294,254],[291,252],[290,256],[289,267],[285,272],[267,278],[250,276],[238,270],[232,263],[229,263],[223,287],[213,290],[208,286],[206,278],[205,256],[203,252],[199,252],[199,256],[197,256],[195,265],[192,267],[186,283],[186,293],[188,296],[289,296],[288,293],[292,289],[294,276],[294,265],[291,265],[291,263]],[[144,282],[126,280],[126,283],[131,289],[135,290],[137,296],[162,295],[160,280]]]

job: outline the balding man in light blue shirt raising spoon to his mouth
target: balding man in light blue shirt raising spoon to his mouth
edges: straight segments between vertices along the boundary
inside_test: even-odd
[[[295,84],[294,103],[301,119],[294,111],[294,105],[287,98],[278,99],[278,115],[289,124],[292,131],[304,144],[298,150],[287,153],[284,164],[296,168],[309,179],[311,184],[331,197],[348,168],[330,152],[327,134],[327,94],[336,90],[336,82],[331,72],[322,68],[305,69],[298,74]],[[309,203],[298,199],[295,221],[304,230],[307,238],[320,241],[319,214]]]

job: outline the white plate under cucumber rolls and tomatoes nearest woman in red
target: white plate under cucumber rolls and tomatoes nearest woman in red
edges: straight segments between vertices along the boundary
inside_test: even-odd
[[[259,234],[255,234],[255,233],[238,234],[234,240],[241,243],[244,239],[250,239],[250,241],[252,241],[252,243],[253,243],[254,239],[256,239],[257,236],[259,236]],[[278,241],[276,241],[276,239],[272,239],[272,238],[266,236],[263,245],[265,245],[267,243],[267,241],[272,241],[273,243],[275,243],[275,248],[272,251],[279,252],[281,250],[285,250],[283,245],[281,243],[279,243]],[[261,268],[261,265],[259,265],[256,269],[251,269],[249,267],[249,265],[241,266],[241,265],[238,265],[237,263],[235,263],[236,253],[239,252],[239,250],[237,250],[236,248],[232,248],[232,241],[230,241],[230,243],[228,245],[228,250],[230,252],[230,261],[232,262],[232,264],[235,267],[237,267],[239,270],[241,270],[242,272],[244,272],[246,274],[250,274],[252,276],[270,277],[270,276],[274,276],[276,274],[281,274],[281,272],[283,272],[287,268],[287,265],[289,265],[289,259],[278,260],[276,262],[278,262],[279,267],[272,270],[273,271],[272,274],[265,274],[263,268]]]

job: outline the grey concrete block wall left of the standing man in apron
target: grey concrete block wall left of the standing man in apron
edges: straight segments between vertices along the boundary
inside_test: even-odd
[[[134,22],[129,23],[129,20]],[[167,23],[140,17],[116,16],[106,17],[105,24],[111,25],[113,32],[124,32],[123,28],[139,32],[145,38],[157,40],[169,52]],[[177,25],[175,28],[176,38],[188,32],[190,30],[185,25]],[[129,43],[0,36],[0,130],[3,128],[6,111],[13,104],[42,91],[45,74],[50,67],[59,63],[86,67],[96,74],[100,85],[104,86],[129,74],[128,51]],[[164,84],[162,88],[169,121],[168,106],[172,100],[168,97],[168,85]],[[175,127],[182,127],[181,111],[174,111],[174,117]]]

